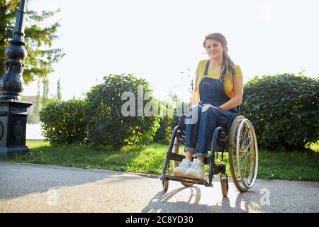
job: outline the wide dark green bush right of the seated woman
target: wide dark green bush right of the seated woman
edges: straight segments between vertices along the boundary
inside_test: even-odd
[[[271,150],[303,149],[319,138],[319,80],[295,74],[254,77],[244,87],[241,114],[258,144]]]

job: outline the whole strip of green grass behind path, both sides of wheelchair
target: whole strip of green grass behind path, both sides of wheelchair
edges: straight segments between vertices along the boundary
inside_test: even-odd
[[[47,142],[27,141],[26,145],[30,148],[30,153],[13,155],[2,161],[160,175],[168,148],[167,145],[157,143],[139,149],[129,148],[120,151],[111,148],[91,148],[88,145],[50,146]],[[225,154],[224,163],[228,163],[228,154]],[[208,172],[208,165],[206,170]],[[230,175],[229,167],[227,170]],[[172,172],[172,168],[170,171]],[[284,153],[259,150],[259,179],[319,182],[318,173],[319,143],[308,145],[306,151]]]

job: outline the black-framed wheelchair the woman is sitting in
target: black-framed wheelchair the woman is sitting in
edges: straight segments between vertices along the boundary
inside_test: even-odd
[[[230,175],[238,191],[246,192],[252,188],[258,170],[257,138],[252,123],[240,114],[234,114],[229,121],[225,117],[217,118],[217,127],[213,132],[210,155],[205,159],[205,165],[209,165],[208,181],[206,179],[170,175],[170,165],[174,170],[175,167],[179,166],[179,162],[185,158],[184,155],[179,154],[180,146],[185,143],[185,118],[185,115],[181,116],[178,126],[171,131],[172,136],[160,177],[163,190],[167,192],[170,180],[181,182],[185,187],[191,187],[194,184],[213,187],[213,176],[219,174],[222,194],[228,196],[225,153],[228,153]],[[182,153],[184,153],[184,150]]]

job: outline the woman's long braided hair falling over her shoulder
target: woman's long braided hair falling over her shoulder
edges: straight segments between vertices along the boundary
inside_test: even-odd
[[[230,72],[230,78],[234,80],[235,79],[235,64],[228,55],[228,45],[227,45],[227,40],[225,36],[220,33],[211,33],[209,35],[206,35],[205,40],[203,41],[204,48],[205,48],[206,40],[216,40],[222,44],[224,51],[223,51],[223,62],[222,62],[222,67],[220,69],[220,74],[226,68],[227,71]]]

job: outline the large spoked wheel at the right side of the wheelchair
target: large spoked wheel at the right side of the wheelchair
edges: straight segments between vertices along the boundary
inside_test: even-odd
[[[252,123],[237,116],[228,132],[228,155],[233,183],[240,192],[250,189],[257,178],[258,147]]]

